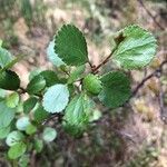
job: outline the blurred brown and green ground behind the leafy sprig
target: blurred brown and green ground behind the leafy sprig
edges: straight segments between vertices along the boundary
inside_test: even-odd
[[[29,71],[52,68],[46,48],[56,31],[69,22],[85,32],[95,65],[109,53],[115,32],[127,24],[137,23],[156,36],[157,57],[144,71],[129,73],[132,88],[167,59],[166,0],[0,0],[3,46],[13,55],[31,56],[14,67],[22,76],[22,85],[27,85]],[[115,68],[109,62],[102,71]],[[91,125],[82,138],[73,139],[56,127],[57,140],[42,154],[28,155],[29,166],[167,167],[167,126],[160,119],[158,100],[163,90],[167,116],[167,67],[164,68],[159,78],[148,80],[127,107],[101,109],[102,119]],[[0,166],[8,166],[2,151]]]

